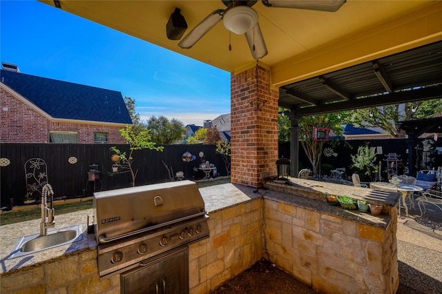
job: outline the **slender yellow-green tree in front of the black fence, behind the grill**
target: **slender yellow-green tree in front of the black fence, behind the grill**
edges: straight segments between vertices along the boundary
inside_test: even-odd
[[[129,155],[126,155],[126,152],[119,150],[115,146],[111,147],[111,150],[115,152],[115,154],[111,156],[111,159],[117,166],[117,172],[111,173],[111,175],[129,172],[132,176],[132,186],[135,187],[135,177],[137,177],[138,170],[133,170],[133,151],[144,148],[162,151],[164,147],[155,147],[155,143],[151,141],[151,133],[149,130],[135,131],[131,126],[126,126],[126,128],[119,130],[119,133],[129,144],[130,152]]]

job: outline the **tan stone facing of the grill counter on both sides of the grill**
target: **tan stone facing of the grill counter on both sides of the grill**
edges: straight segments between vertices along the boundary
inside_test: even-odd
[[[209,239],[189,246],[190,293],[209,293],[262,257],[262,215],[262,198],[209,213]],[[94,249],[2,277],[0,292],[119,294],[119,275],[99,277]]]

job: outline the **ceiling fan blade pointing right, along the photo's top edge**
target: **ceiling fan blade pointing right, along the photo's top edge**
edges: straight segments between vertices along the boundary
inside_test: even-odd
[[[346,0],[261,0],[267,7],[335,12]]]

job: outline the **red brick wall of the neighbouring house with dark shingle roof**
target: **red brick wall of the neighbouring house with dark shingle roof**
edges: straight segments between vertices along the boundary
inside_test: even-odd
[[[50,130],[77,132],[78,142],[81,144],[93,143],[95,132],[108,133],[109,144],[126,143],[119,134],[122,126],[53,122],[2,88],[0,88],[0,122],[0,141],[3,143],[47,143]]]

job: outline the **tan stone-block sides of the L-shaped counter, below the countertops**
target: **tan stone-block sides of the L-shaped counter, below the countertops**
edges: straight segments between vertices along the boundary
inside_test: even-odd
[[[206,294],[262,257],[321,293],[396,293],[397,211],[387,228],[257,198],[209,213],[210,237],[189,246],[189,289]],[[1,278],[1,293],[119,293],[84,250]]]

